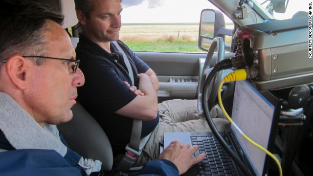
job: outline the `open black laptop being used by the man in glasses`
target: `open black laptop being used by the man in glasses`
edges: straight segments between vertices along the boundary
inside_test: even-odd
[[[274,147],[281,105],[282,99],[269,91],[259,92],[248,81],[237,81],[231,118],[250,139],[271,151]],[[268,173],[268,163],[272,158],[250,144],[232,126],[230,132],[220,133],[223,134],[229,147],[234,150],[252,175],[264,176]],[[207,139],[210,141],[207,142]],[[211,150],[206,152],[207,158],[190,168],[184,174],[185,176],[211,176],[219,173],[230,176],[244,175],[212,132],[165,132],[164,148],[174,140],[179,140],[182,144],[198,144],[199,150],[202,152],[205,148]],[[212,144],[216,144],[217,149]],[[199,151],[196,155],[198,154]],[[213,154],[213,156],[209,154]],[[218,164],[214,165],[212,161]],[[212,165],[213,168],[206,168],[203,171],[203,167],[208,165]]]

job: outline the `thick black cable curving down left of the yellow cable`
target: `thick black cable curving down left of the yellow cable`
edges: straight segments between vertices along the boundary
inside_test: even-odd
[[[223,62],[224,61],[224,62]],[[208,97],[209,95],[209,90],[208,88],[211,80],[214,78],[214,75],[218,72],[221,71],[225,65],[225,61],[223,60],[219,63],[217,63],[213,69],[211,70],[211,72],[209,73],[208,77],[205,80],[204,86],[203,86],[203,96],[202,96],[202,103],[203,103],[203,111],[204,111],[204,116],[206,118],[207,123],[209,124],[209,127],[211,128],[213,134],[215,135],[215,137],[218,139],[218,141],[221,143],[221,145],[224,147],[224,149],[226,150],[226,152],[230,155],[230,157],[236,162],[236,164],[240,167],[240,169],[246,174],[246,176],[252,176],[252,174],[250,173],[250,171],[246,168],[245,164],[240,160],[240,158],[235,154],[235,152],[233,150],[231,150],[228,147],[228,144],[226,143],[226,141],[223,139],[222,135],[218,132],[218,129],[216,128],[211,114],[210,114],[210,108],[209,108],[209,103],[206,100],[206,97]],[[229,62],[227,62],[229,63]]]

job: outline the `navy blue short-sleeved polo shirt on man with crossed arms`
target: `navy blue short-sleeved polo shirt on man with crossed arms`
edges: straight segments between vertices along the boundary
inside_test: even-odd
[[[139,59],[128,46],[117,41],[133,69],[134,86],[138,88],[138,73],[145,73],[150,67]],[[136,95],[129,91],[123,81],[131,83],[123,54],[111,44],[111,53],[93,43],[83,34],[79,36],[76,57],[80,59],[79,68],[85,75],[85,85],[78,88],[78,101],[98,121],[108,135],[113,154],[125,152],[130,141],[133,119],[118,115],[115,111],[130,103]],[[152,132],[159,122],[159,117],[143,121],[141,136]]]

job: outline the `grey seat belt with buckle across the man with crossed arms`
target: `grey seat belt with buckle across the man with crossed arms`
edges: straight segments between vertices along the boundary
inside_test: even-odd
[[[131,77],[132,80],[132,86],[134,86],[134,74],[133,74],[133,69],[131,67],[131,64],[123,51],[123,49],[120,47],[120,45],[114,41],[112,42],[118,49],[119,52],[123,54],[123,59],[124,63],[128,69],[129,76]],[[142,127],[142,121],[141,120],[136,120],[134,119],[133,122],[133,129],[132,129],[132,134],[131,134],[131,139],[129,144],[127,144],[125,150],[127,151],[124,157],[121,159],[119,162],[117,169],[121,171],[128,171],[134,164],[134,161],[138,156],[140,156],[142,152],[142,148],[146,145],[148,139],[150,138],[150,135],[147,135],[140,139],[141,136],[141,127]]]

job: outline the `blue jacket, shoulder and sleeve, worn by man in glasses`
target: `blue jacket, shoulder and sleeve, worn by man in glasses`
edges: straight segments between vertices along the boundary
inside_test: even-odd
[[[86,176],[53,150],[21,149],[0,153],[1,176]],[[138,176],[179,176],[168,160],[148,162]]]

